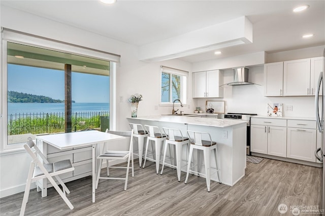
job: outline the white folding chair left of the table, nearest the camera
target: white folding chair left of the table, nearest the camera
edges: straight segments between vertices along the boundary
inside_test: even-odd
[[[59,193],[59,195],[62,197],[64,202],[67,203],[70,209],[73,209],[74,208],[73,205],[71,204],[71,202],[66,196],[66,193],[70,194],[70,191],[67,188],[67,186],[64,185],[61,178],[58,176],[59,174],[71,172],[75,169],[71,161],[62,160],[55,163],[49,163],[45,158],[45,156],[40,151],[40,149],[36,146],[35,142],[30,137],[28,138],[28,141],[24,144],[24,148],[26,152],[31,156],[32,161],[29,166],[24,198],[22,200],[22,205],[20,209],[20,215],[24,215],[26,204],[28,202],[31,183],[36,182],[43,178],[47,178],[50,181],[50,183],[55,188],[55,190]],[[35,149],[35,153],[31,150],[31,148]],[[39,157],[42,158],[44,164],[40,161]],[[57,179],[59,184],[62,186],[63,191],[56,184],[53,177]]]

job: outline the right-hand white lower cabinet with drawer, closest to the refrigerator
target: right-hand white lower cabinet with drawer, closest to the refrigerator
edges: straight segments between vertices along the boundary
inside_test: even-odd
[[[287,157],[316,162],[316,122],[288,120]]]

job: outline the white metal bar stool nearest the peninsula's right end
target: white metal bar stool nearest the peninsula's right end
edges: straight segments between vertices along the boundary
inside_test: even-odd
[[[217,162],[217,143],[211,140],[211,136],[207,132],[197,132],[197,131],[187,131],[187,135],[190,139],[191,145],[189,149],[189,156],[188,161],[191,161],[193,149],[203,150],[203,157],[204,157],[204,167],[205,167],[205,174],[200,172],[201,167],[201,157],[198,159],[198,171],[191,170],[190,163],[187,165],[187,173],[185,178],[185,184],[187,183],[188,174],[189,172],[198,173],[199,175],[206,176],[207,188],[208,192],[210,192],[210,160],[211,160],[211,150],[214,150],[214,157],[215,157],[215,164],[218,176],[218,182],[221,183],[219,169],[218,169],[218,162]],[[208,140],[202,140],[202,136],[207,138]],[[191,138],[192,137],[192,138]],[[199,154],[198,154],[199,155]],[[195,165],[194,165],[195,166]]]

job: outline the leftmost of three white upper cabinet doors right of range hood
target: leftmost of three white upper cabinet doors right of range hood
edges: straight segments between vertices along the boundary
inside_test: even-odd
[[[264,96],[282,96],[283,61],[264,65]]]

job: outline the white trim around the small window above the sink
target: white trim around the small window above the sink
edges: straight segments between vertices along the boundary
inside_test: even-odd
[[[180,69],[176,69],[176,68],[172,68],[172,67],[167,67],[167,66],[163,66],[163,65],[160,66],[159,106],[170,106],[170,105],[173,105],[172,101],[161,102],[161,74],[162,73],[167,73],[167,74],[171,74],[171,75],[179,75],[179,76],[186,77],[185,82],[183,81],[183,79],[181,79],[181,86],[182,86],[182,90],[183,90],[183,92],[181,92],[181,101],[182,101],[183,105],[186,106],[187,98],[188,98],[188,74],[189,74],[188,71],[180,70]],[[184,94],[185,94],[185,96],[184,96]],[[184,98],[185,98],[185,100],[184,100]],[[177,101],[177,102],[175,102],[175,104],[180,104],[180,102]]]

